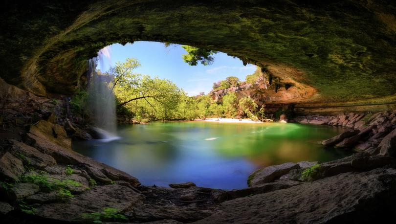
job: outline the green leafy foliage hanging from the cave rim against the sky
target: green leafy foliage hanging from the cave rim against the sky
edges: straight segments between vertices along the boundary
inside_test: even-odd
[[[209,50],[195,46],[182,45],[181,47],[187,51],[187,54],[182,55],[183,60],[190,66],[196,66],[198,65],[198,62],[204,66],[212,65],[213,61],[215,60],[212,55],[217,53],[215,50]]]

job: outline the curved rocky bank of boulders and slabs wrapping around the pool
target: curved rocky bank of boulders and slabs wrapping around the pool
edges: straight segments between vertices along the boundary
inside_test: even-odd
[[[368,223],[394,216],[395,112],[297,118],[350,128],[321,142],[369,145],[350,157],[265,167],[245,189],[158,187],[74,152],[72,117],[9,88],[2,106],[12,109],[4,110],[0,133],[2,223]]]

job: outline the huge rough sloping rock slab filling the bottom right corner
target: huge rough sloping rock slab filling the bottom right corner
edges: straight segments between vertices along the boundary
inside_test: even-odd
[[[220,204],[196,223],[368,223],[392,217],[396,170],[345,173]]]

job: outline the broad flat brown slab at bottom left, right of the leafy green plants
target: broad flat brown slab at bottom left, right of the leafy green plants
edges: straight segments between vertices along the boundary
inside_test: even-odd
[[[92,190],[70,198],[64,203],[49,203],[36,208],[38,216],[58,221],[82,220],[84,213],[102,212],[111,207],[121,211],[133,210],[142,204],[144,196],[118,184],[93,187]]]

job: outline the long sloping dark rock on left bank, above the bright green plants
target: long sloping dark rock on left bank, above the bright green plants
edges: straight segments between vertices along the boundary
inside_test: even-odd
[[[33,166],[34,168],[43,168],[56,164],[53,157],[48,156],[29,145],[16,140],[11,140],[11,142],[13,143],[11,153],[16,157],[20,157],[22,160],[26,160],[25,162],[27,162],[29,166]]]

